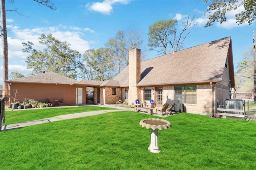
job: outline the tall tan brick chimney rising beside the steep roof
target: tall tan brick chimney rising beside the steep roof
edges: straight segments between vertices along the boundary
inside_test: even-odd
[[[140,49],[134,48],[129,51],[129,105],[135,104],[135,100],[140,100],[140,89],[137,83],[140,81]],[[140,100],[141,101],[141,100]]]

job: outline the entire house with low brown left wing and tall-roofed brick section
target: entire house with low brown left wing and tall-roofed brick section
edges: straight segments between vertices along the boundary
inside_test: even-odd
[[[129,51],[129,65],[113,80],[76,81],[54,72],[6,81],[24,98],[64,105],[116,104],[136,99],[162,106],[167,99],[184,103],[189,113],[212,114],[216,100],[231,98],[235,86],[231,37],[140,61],[140,49]],[[38,92],[39,90],[41,92]]]

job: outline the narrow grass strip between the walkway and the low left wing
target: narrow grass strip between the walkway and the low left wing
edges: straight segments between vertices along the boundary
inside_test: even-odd
[[[58,107],[58,108],[48,107],[44,109],[21,109],[18,111],[5,111],[4,125],[44,119],[44,118],[54,117],[58,115],[81,113],[81,112],[87,112],[87,111],[111,110],[111,109],[113,110],[114,108],[98,107],[98,106],[78,106],[78,107],[74,106],[74,107]]]

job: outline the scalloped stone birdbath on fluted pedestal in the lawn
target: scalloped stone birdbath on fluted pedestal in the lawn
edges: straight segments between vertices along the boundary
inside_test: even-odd
[[[158,129],[162,130],[171,128],[171,123],[163,119],[152,118],[141,120],[140,125],[142,125],[142,127],[146,127],[147,129],[151,128],[151,141],[148,150],[152,153],[161,152],[160,148],[158,147]]]

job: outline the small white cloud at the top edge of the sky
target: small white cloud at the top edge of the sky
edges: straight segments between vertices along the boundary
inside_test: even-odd
[[[104,0],[103,2],[93,2],[86,4],[86,8],[91,11],[100,12],[102,14],[110,15],[113,8],[112,6],[116,3],[128,4],[130,0]]]

